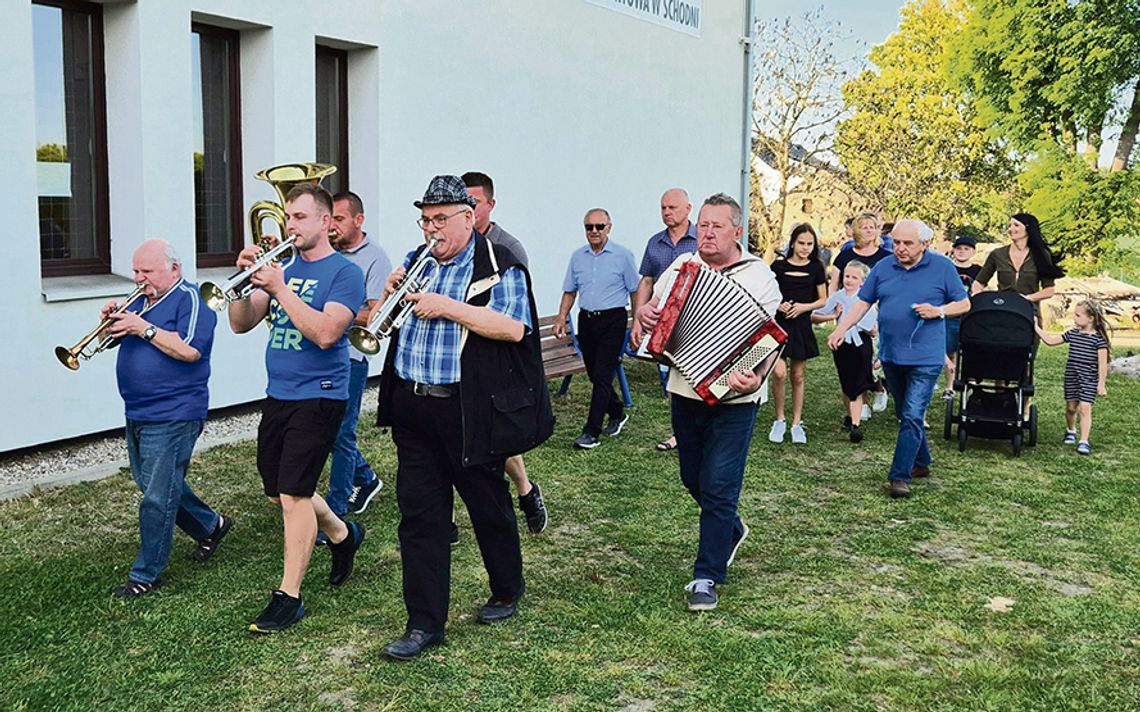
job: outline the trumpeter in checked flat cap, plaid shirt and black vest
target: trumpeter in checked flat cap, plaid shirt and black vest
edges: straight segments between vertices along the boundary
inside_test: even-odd
[[[527,268],[474,229],[463,180],[437,175],[416,200],[424,240],[388,279],[389,298],[421,259],[429,286],[407,295],[412,316],[392,336],[376,423],[392,428],[399,466],[405,635],[384,653],[416,657],[443,641],[450,598],[453,488],[459,493],[490,580],[480,623],[513,616],[522,597],[522,551],[504,461],[554,427]],[[383,302],[381,302],[383,303]]]

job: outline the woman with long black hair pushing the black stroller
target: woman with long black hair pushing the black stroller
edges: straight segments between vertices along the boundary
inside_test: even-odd
[[[1017,292],[1033,302],[1034,310],[1041,313],[1037,303],[1053,295],[1053,283],[1065,276],[1065,270],[1053,261],[1035,216],[1017,213],[1009,219],[1009,245],[986,256],[974,280],[974,294],[985,289],[994,275],[999,292]]]

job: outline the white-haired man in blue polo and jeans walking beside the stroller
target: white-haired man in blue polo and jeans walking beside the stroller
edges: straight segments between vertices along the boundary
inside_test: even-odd
[[[895,396],[898,441],[890,463],[890,497],[911,496],[911,478],[930,475],[930,447],[922,416],[945,360],[946,317],[970,310],[969,295],[954,263],[928,251],[931,230],[920,220],[895,224],[894,255],[868,275],[855,303],[828,338],[832,351],[844,334],[879,304],[879,360]]]

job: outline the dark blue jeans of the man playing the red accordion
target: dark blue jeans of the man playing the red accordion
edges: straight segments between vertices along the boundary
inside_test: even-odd
[[[670,403],[681,482],[701,507],[693,578],[724,583],[732,546],[744,531],[736,504],[758,404],[707,406],[679,395]]]

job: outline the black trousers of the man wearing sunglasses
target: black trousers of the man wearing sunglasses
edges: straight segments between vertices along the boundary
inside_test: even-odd
[[[613,390],[613,375],[621,362],[621,349],[626,343],[626,310],[578,312],[578,346],[581,360],[586,362],[586,375],[594,385],[589,395],[589,415],[586,416],[584,433],[595,437],[602,432],[602,419],[620,420],[625,403]]]

